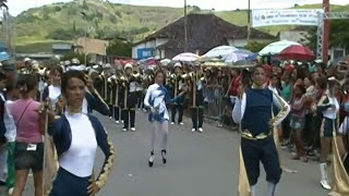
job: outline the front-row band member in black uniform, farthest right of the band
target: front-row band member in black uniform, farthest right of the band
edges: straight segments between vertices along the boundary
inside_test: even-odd
[[[200,68],[200,66],[197,66]],[[205,77],[201,71],[195,68],[190,66],[191,73],[189,73],[189,94],[191,99],[191,110],[192,110],[192,132],[198,131],[203,132],[204,122],[204,95],[203,86],[205,85]]]

